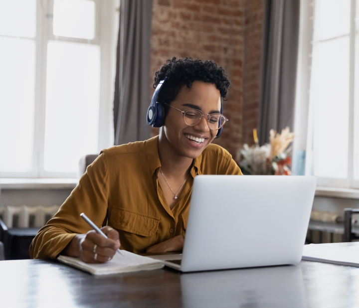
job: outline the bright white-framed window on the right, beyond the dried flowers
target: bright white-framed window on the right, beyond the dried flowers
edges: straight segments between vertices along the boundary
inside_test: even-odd
[[[310,78],[306,174],[318,186],[359,188],[359,3],[303,2],[314,8],[304,19],[313,22],[312,63],[301,72]]]

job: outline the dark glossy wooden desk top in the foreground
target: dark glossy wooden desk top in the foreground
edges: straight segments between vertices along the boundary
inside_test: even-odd
[[[56,262],[1,261],[0,307],[359,307],[359,268],[302,261],[189,274],[162,269],[91,276]]]

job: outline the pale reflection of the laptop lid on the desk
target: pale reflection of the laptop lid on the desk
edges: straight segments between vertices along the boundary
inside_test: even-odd
[[[299,266],[182,274],[183,307],[304,308]]]

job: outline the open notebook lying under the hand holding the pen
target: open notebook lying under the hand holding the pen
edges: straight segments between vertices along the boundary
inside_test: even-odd
[[[139,256],[131,252],[121,250],[124,256],[115,254],[111,261],[101,264],[89,264],[79,258],[59,256],[57,260],[76,267],[80,270],[91,273],[92,275],[108,275],[125,272],[136,272],[145,270],[156,270],[164,267],[160,260]]]

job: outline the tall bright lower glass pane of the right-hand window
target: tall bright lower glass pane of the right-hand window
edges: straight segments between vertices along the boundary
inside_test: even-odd
[[[313,47],[313,173],[347,178],[349,134],[349,35]]]

